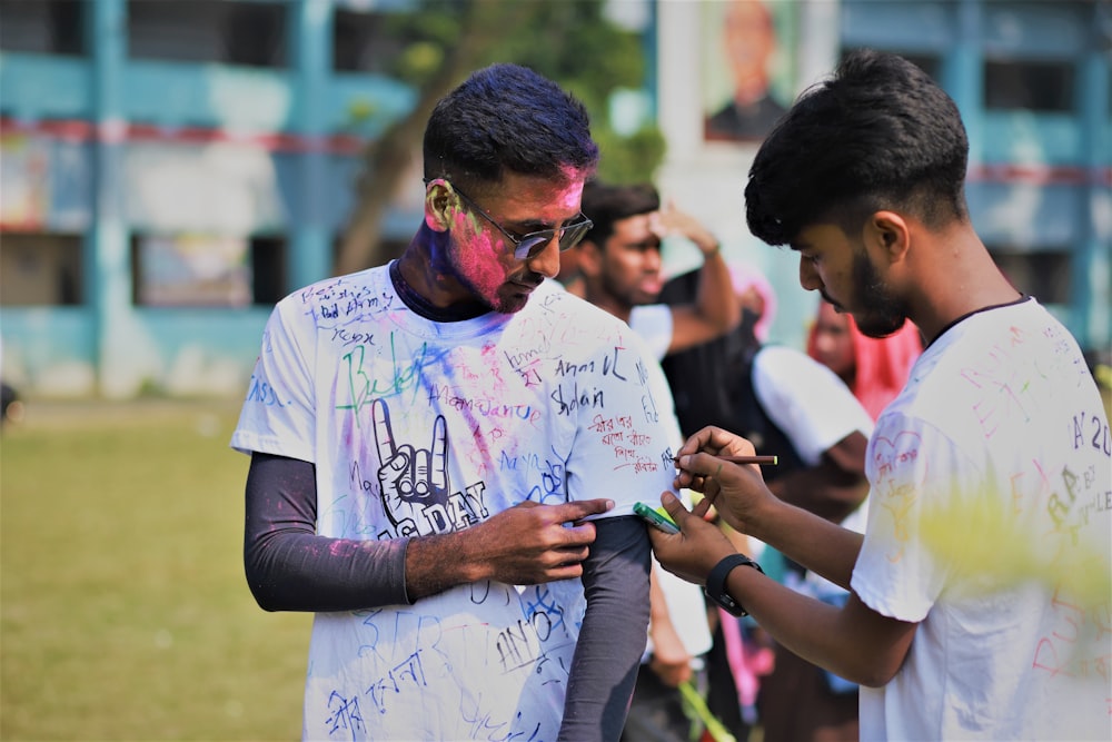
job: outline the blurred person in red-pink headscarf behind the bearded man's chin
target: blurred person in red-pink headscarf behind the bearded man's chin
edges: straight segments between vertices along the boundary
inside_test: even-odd
[[[907,383],[907,374],[923,353],[923,338],[910,321],[892,335],[868,337],[853,315],[820,300],[807,334],[807,355],[846,383],[875,421]]]

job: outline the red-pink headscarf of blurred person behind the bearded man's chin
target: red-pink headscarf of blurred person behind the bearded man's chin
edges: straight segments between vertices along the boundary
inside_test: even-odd
[[[892,402],[907,383],[907,375],[915,359],[923,353],[923,340],[919,328],[910,320],[896,333],[884,338],[867,337],[857,329],[852,315],[843,315],[850,320],[850,337],[853,342],[853,357],[856,373],[851,389],[862,406],[875,421],[884,407]],[[815,353],[815,326],[807,334],[807,355]]]

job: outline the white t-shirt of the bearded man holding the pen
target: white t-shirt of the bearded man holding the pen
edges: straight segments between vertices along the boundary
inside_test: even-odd
[[[1112,739],[1110,454],[1081,352],[1033,299],[926,348],[868,446],[852,585],[921,623],[861,689],[862,740]]]

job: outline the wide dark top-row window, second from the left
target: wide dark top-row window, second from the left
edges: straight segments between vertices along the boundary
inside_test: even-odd
[[[286,3],[130,0],[128,51],[135,59],[286,65]]]

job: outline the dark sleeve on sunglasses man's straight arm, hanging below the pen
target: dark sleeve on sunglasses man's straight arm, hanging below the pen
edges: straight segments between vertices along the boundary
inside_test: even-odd
[[[648,640],[652,544],[645,524],[636,516],[594,523],[596,538],[583,570],[587,612],[558,738],[564,742],[609,742],[622,735]]]

